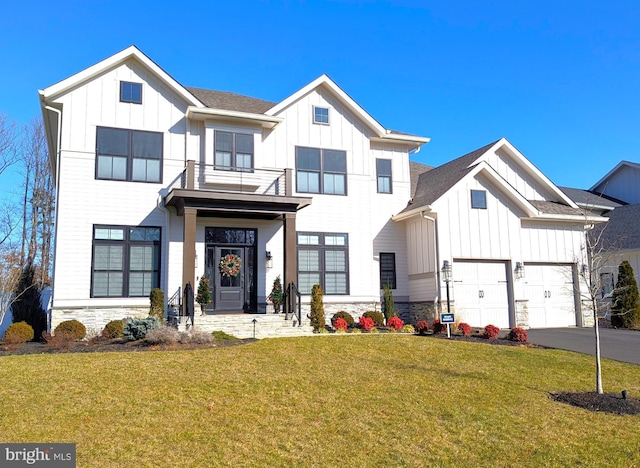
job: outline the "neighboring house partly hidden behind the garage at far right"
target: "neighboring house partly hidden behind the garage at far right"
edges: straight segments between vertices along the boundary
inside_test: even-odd
[[[640,282],[640,164],[622,161],[589,190],[563,188],[579,206],[607,217],[591,233],[595,281],[602,304],[618,281],[618,266],[627,260]]]

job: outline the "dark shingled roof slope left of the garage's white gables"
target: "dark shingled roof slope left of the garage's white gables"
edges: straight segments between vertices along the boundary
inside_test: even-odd
[[[473,163],[498,141],[420,174],[413,200],[403,211],[431,205],[467,175],[473,169]]]

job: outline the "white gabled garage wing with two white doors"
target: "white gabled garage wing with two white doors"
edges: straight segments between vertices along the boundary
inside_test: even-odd
[[[456,319],[501,328],[587,326],[580,296],[585,214],[506,139],[420,174],[404,225],[413,310],[446,304]],[[446,307],[446,306],[445,306]]]

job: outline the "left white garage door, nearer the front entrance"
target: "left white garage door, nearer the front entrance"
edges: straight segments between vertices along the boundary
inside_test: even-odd
[[[509,294],[504,262],[454,261],[456,319],[472,327],[509,328]]]

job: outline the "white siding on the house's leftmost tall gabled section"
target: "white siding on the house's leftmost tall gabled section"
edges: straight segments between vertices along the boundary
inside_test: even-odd
[[[121,80],[143,84],[142,104],[120,102]],[[176,180],[187,159],[187,104],[135,60],[106,71],[57,102],[63,106],[63,119],[54,307],[148,307],[148,298],[90,299],[92,228],[95,224],[159,226],[165,238],[166,214],[157,205],[164,188]],[[98,126],[162,132],[163,181],[96,180]],[[193,158],[197,157],[195,153]],[[163,248],[163,271],[167,258]],[[161,278],[162,283],[165,281]]]

